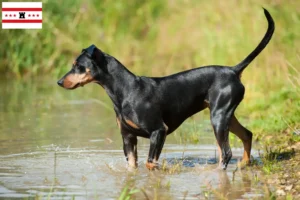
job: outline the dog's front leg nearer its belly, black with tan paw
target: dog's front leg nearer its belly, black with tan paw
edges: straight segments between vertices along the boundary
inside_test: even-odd
[[[146,163],[146,167],[149,170],[153,170],[158,168],[158,159],[161,153],[161,150],[164,146],[165,139],[167,136],[167,130],[165,127],[153,131],[150,136],[150,150],[148,155],[148,160]]]

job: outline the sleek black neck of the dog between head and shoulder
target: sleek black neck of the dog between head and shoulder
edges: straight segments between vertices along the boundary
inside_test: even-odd
[[[129,95],[129,88],[136,84],[136,76],[114,57],[105,57],[108,63],[107,73],[100,78],[101,80],[97,80],[97,83],[105,89],[114,106],[119,108],[122,100]]]

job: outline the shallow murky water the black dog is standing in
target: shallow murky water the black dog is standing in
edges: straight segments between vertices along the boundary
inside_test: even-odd
[[[139,190],[136,199],[264,196],[263,183],[253,181],[258,172],[234,173],[243,153],[239,142],[228,169],[216,169],[205,114],[167,137],[160,158],[167,169],[146,169],[149,140],[139,138],[139,167],[128,171],[115,114],[101,87],[67,91],[55,80],[5,80],[0,91],[0,198],[117,199],[126,187]]]

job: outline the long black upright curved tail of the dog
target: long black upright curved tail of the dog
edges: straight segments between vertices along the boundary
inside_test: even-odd
[[[265,16],[268,20],[268,30],[265,36],[263,37],[263,39],[261,40],[261,42],[258,44],[258,46],[242,62],[234,66],[233,70],[239,75],[252,62],[252,60],[254,60],[254,58],[267,46],[274,33],[275,24],[273,18],[265,8],[263,9],[265,12]]]

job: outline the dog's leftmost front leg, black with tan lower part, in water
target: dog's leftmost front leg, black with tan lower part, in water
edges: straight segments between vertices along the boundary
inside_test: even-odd
[[[137,137],[122,132],[123,150],[130,168],[137,168]]]

